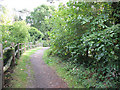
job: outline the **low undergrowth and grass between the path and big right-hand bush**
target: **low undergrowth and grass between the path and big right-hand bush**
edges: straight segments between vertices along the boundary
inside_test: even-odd
[[[55,67],[58,75],[68,83],[70,88],[110,88],[113,84],[115,84],[114,78],[109,78],[110,76],[108,75],[110,74],[103,77],[103,72],[99,71],[103,68],[100,66],[98,66],[98,68],[94,68],[86,66],[84,63],[81,64],[79,61],[72,61],[63,57],[60,58],[57,55],[51,55],[50,49],[44,53],[43,59],[46,64]],[[83,57],[81,57],[81,59],[91,60],[91,58]],[[107,69],[107,67],[104,68]]]

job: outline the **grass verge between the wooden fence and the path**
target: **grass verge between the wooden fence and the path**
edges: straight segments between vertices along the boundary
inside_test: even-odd
[[[32,55],[39,49],[40,47],[27,50],[22,54],[20,59],[17,61],[18,65],[15,67],[13,73],[11,74],[13,78],[13,80],[11,81],[12,88],[27,88],[27,85],[29,85],[28,73],[33,74],[30,63],[30,55]],[[29,67],[29,71],[28,71],[28,67]]]

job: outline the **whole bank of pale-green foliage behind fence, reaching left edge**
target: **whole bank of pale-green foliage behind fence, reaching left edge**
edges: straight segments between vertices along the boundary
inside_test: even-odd
[[[1,25],[3,48],[11,45],[12,42],[24,43],[30,38],[28,26],[24,21],[15,22],[13,25]]]

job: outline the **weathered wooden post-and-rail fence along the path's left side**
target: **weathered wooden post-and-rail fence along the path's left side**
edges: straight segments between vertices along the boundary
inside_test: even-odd
[[[3,87],[3,83],[4,83],[4,72],[7,71],[10,66],[14,66],[15,62],[16,62],[16,58],[19,59],[20,55],[25,52],[28,49],[32,49],[35,47],[39,47],[39,46],[43,46],[42,43],[36,43],[36,44],[32,44],[32,42],[30,43],[18,43],[18,44],[14,44],[11,43],[10,47],[6,47],[6,48],[2,48],[2,44],[0,44],[0,90]],[[8,50],[12,51],[12,55],[11,57],[7,60],[7,63],[4,65],[3,63],[3,54],[5,52],[7,52]]]

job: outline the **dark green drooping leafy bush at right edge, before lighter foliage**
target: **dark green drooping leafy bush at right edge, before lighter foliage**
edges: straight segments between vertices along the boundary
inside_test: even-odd
[[[107,61],[118,60],[118,50],[119,50],[119,33],[120,25],[113,25],[103,31],[93,32],[90,35],[83,35],[81,41],[83,43],[83,49],[89,46],[89,51],[91,55],[95,52],[94,58],[98,61],[100,59],[105,59]],[[87,42],[87,44],[85,44]],[[108,55],[108,56],[107,56]]]

